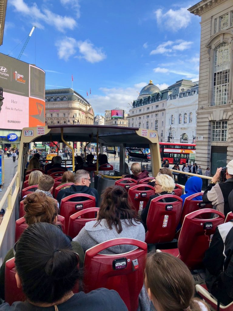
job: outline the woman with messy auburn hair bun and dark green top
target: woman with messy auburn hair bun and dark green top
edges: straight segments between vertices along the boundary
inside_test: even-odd
[[[46,196],[43,192],[33,192],[27,195],[24,200],[25,222],[32,225],[38,222],[46,222],[52,225],[57,223],[57,203]],[[61,228],[59,228],[61,230]],[[68,236],[67,236],[68,237]],[[70,240],[71,238],[68,237]],[[83,266],[84,252],[77,242],[71,242],[73,250],[79,254],[80,266]],[[0,269],[0,297],[4,299],[4,280],[5,280],[5,264],[8,259],[14,257],[13,248],[9,250]]]

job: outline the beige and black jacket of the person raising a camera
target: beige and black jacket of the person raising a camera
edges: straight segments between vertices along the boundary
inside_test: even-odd
[[[203,202],[216,206],[218,211],[224,213],[225,217],[227,213],[231,211],[228,203],[228,196],[233,190],[233,178],[229,178],[225,183],[217,183],[216,185],[210,183],[203,193]]]

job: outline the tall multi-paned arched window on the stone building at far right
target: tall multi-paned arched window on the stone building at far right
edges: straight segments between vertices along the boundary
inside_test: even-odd
[[[228,100],[230,53],[230,45],[226,42],[220,44],[214,51],[213,103],[215,105],[226,104]]]

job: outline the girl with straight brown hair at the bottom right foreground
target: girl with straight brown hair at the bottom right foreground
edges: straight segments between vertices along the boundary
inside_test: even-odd
[[[194,281],[188,267],[170,254],[148,255],[145,287],[157,311],[209,311],[203,300],[194,298]]]

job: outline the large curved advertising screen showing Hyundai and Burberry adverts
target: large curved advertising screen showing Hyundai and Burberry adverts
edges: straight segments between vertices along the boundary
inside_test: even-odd
[[[45,125],[45,72],[0,53],[3,104],[0,128],[21,130]]]

